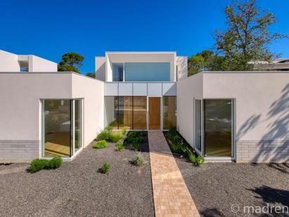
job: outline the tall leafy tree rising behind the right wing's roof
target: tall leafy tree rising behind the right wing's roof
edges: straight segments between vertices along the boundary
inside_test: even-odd
[[[269,32],[269,27],[276,23],[275,15],[257,8],[256,0],[235,0],[224,13],[228,29],[215,31],[215,48],[226,58],[229,70],[250,70],[251,60],[276,58],[268,46],[287,36]]]

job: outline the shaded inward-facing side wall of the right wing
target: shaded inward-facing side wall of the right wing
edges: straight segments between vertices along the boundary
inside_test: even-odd
[[[203,98],[203,73],[177,81],[177,131],[194,145],[194,98]]]

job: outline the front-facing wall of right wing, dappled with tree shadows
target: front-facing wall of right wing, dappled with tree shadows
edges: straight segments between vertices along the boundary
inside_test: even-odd
[[[203,98],[235,98],[236,161],[289,161],[289,74],[203,73]]]

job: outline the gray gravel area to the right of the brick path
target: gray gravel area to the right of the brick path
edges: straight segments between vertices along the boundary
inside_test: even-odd
[[[243,213],[243,206],[289,206],[288,164],[206,163],[196,167],[175,159],[202,216],[258,216]],[[236,214],[231,212],[234,204],[240,208]]]

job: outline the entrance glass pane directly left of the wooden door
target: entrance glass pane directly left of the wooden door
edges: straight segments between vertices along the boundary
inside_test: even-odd
[[[133,129],[147,129],[147,97],[133,97]]]

